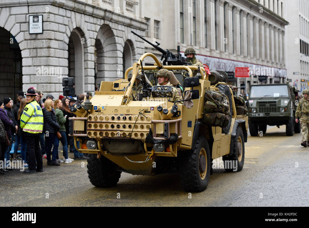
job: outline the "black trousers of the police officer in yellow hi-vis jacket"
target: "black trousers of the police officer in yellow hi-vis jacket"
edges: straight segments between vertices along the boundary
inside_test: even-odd
[[[27,149],[26,156],[28,156],[28,169],[36,170],[43,169],[42,153],[40,149],[40,134],[32,134],[24,132]]]

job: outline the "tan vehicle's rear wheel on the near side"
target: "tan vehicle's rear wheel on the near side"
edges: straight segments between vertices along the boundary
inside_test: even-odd
[[[243,129],[240,126],[238,126],[236,130],[233,154],[231,156],[222,156],[222,160],[226,171],[236,171],[236,169],[240,171],[243,169],[243,163],[245,161],[245,142],[243,138]]]

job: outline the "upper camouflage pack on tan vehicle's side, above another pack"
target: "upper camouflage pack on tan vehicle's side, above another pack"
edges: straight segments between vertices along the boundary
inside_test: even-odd
[[[229,110],[229,102],[224,93],[208,90],[205,92],[204,112],[226,112]]]

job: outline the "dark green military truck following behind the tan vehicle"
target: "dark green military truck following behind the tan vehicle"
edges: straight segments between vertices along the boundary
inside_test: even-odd
[[[289,84],[251,85],[249,95],[249,130],[251,136],[260,131],[266,133],[267,125],[286,125],[286,135],[300,133],[300,124],[295,122],[299,90]]]

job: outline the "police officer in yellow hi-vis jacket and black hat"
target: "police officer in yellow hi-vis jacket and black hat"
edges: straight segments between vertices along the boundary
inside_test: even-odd
[[[43,112],[36,102],[36,92],[27,90],[27,104],[20,117],[20,127],[23,129],[27,143],[28,169],[24,173],[43,172],[43,160],[40,150],[40,133],[43,132]],[[36,167],[37,164],[37,167]]]

